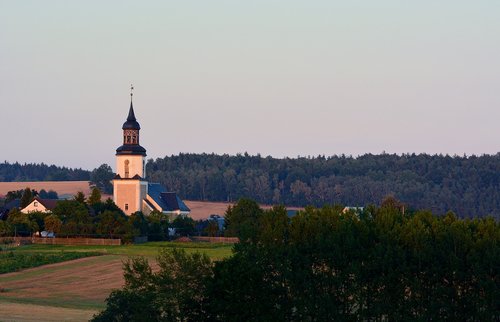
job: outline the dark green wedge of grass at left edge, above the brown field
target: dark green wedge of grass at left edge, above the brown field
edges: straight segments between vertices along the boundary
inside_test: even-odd
[[[73,259],[97,256],[98,252],[18,252],[15,250],[0,252],[0,274],[17,272],[47,264],[65,262]]]

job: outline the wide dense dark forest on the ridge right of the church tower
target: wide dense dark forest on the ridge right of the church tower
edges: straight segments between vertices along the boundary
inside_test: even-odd
[[[180,154],[149,160],[150,181],[182,198],[305,206],[379,204],[393,195],[415,209],[500,218],[500,154],[365,154],[276,159]]]

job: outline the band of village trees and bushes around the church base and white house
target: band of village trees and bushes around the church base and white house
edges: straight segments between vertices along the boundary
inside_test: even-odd
[[[43,193],[26,188],[8,194],[17,195],[22,209]],[[169,228],[175,229],[174,235]],[[142,212],[127,216],[110,198],[101,201],[98,188],[93,188],[88,198],[79,192],[72,200],[58,200],[50,213],[23,213],[13,208],[0,219],[0,237],[32,236],[42,231],[53,232],[57,237],[119,238],[124,243],[140,236],[148,237],[149,241],[162,241],[177,236],[220,234],[216,223],[210,220],[195,222],[190,217],[174,218],[157,211],[148,216]]]

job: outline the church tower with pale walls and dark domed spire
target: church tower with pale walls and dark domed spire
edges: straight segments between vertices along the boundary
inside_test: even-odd
[[[116,176],[113,180],[113,200],[127,215],[141,211],[148,194],[146,149],[139,144],[141,126],[135,118],[132,96],[130,93],[130,109],[122,126],[123,145],[116,149]]]

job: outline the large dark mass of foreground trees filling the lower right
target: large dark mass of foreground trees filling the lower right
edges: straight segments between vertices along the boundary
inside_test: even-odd
[[[124,264],[97,321],[497,321],[500,224],[491,217],[308,207],[289,218],[240,200],[233,255],[165,249]]]

